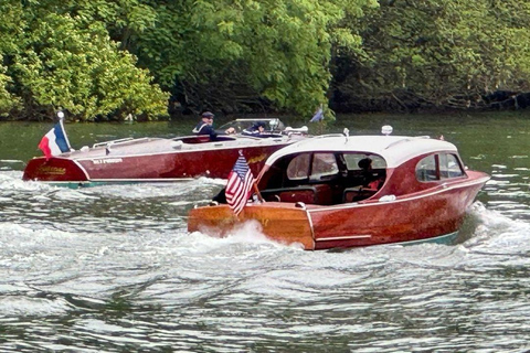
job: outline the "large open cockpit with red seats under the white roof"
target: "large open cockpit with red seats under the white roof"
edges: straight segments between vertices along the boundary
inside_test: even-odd
[[[373,196],[386,179],[377,154],[304,152],[285,156],[259,181],[265,201],[333,205]]]

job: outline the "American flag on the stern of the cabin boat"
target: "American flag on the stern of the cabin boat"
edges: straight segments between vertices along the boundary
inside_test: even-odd
[[[245,157],[240,152],[240,157],[229,174],[225,191],[226,201],[235,215],[239,215],[245,206],[253,184],[254,175],[252,175]]]

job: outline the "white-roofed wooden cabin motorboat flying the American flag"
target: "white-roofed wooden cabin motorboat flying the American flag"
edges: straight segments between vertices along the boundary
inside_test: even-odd
[[[263,201],[256,193],[237,216],[218,202],[195,207],[188,229],[225,236],[253,221],[308,250],[449,242],[488,180],[439,139],[315,137],[268,158],[257,178]]]

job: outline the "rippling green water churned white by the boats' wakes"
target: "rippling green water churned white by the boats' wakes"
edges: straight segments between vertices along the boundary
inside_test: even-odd
[[[339,117],[326,131],[443,135],[491,180],[458,245],[329,252],[188,234],[223,180],[22,182],[51,124],[0,124],[0,352],[528,352],[527,115]],[[66,130],[81,148],[194,122]]]

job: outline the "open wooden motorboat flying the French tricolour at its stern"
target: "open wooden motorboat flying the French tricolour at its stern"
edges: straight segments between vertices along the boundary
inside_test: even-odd
[[[278,119],[267,133],[244,136],[241,127],[252,120],[234,120],[234,135],[187,136],[177,138],[126,138],[95,143],[51,158],[28,162],[22,179],[55,185],[92,186],[108,183],[170,182],[198,176],[226,178],[239,151],[258,173],[267,157],[285,146],[307,138],[307,128],[284,128]],[[282,130],[278,130],[282,128]]]

